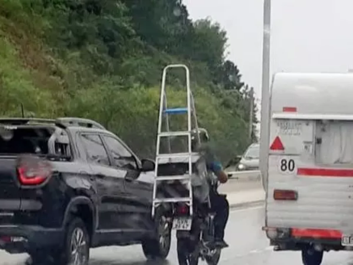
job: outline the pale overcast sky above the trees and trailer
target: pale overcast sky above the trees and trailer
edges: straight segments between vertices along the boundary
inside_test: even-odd
[[[210,17],[227,31],[227,58],[261,99],[263,0],[183,2],[192,19]],[[353,0],[272,0],[271,75],[352,69],[352,10]]]

